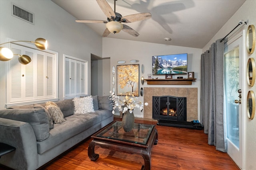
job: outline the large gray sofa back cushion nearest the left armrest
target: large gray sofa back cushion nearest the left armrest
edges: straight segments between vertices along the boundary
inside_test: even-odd
[[[30,123],[37,141],[44,141],[49,136],[49,119],[43,108],[41,109],[3,109],[0,117]]]

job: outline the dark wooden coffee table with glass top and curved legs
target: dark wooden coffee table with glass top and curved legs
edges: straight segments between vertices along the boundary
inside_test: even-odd
[[[114,121],[92,135],[93,140],[88,147],[88,156],[96,161],[99,154],[94,152],[94,147],[99,146],[104,149],[125,152],[129,154],[139,154],[144,158],[141,170],[150,170],[151,149],[158,142],[158,133],[155,125],[134,123],[134,128],[130,132],[125,132],[121,121]]]

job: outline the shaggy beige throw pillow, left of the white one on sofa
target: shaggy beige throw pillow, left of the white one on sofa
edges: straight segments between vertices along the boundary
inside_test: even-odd
[[[56,103],[46,102],[45,108],[47,111],[49,111],[54,123],[61,123],[61,122],[65,121],[64,115],[63,115],[62,111],[60,110],[60,107],[58,107]]]

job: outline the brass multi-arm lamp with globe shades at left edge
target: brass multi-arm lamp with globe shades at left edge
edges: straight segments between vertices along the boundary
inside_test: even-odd
[[[10,41],[7,43],[14,43],[14,42],[29,42],[29,43],[34,43],[38,49],[45,50],[47,49],[47,40],[43,38],[37,38],[35,41]],[[7,43],[2,43],[7,44]],[[9,61],[12,59],[13,55],[19,56],[19,62],[21,64],[28,64],[31,61],[31,58],[28,55],[18,55],[18,54],[13,54],[12,51],[6,47],[0,47],[0,61]]]

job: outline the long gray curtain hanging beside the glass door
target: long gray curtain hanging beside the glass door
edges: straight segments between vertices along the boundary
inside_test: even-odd
[[[201,55],[201,119],[208,144],[226,152],[223,125],[224,41],[218,39]]]

